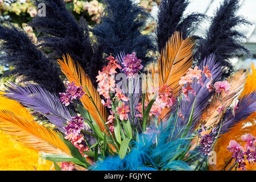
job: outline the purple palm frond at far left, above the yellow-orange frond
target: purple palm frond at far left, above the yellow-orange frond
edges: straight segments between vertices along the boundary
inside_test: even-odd
[[[61,132],[65,133],[63,123],[67,123],[65,119],[71,119],[71,113],[67,107],[61,104],[59,98],[50,93],[48,90],[38,85],[26,84],[26,86],[16,85],[9,82],[10,86],[6,86],[5,97],[20,102],[20,104],[30,107],[35,111],[43,114],[51,113],[54,115],[46,115],[49,122],[57,126]]]

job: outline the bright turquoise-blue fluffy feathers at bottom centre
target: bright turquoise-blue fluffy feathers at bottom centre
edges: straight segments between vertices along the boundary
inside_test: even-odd
[[[169,122],[173,120],[170,119]],[[191,170],[190,163],[177,159],[180,152],[187,151],[191,140],[185,138],[171,140],[171,131],[171,127],[163,126],[156,129],[155,133],[141,134],[137,136],[137,140],[130,142],[132,148],[125,158],[121,160],[118,155],[98,160],[90,169],[97,171]],[[191,155],[193,155],[192,151]]]

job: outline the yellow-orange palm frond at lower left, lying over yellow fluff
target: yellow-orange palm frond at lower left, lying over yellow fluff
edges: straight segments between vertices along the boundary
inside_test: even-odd
[[[11,111],[0,110],[0,129],[25,146],[41,152],[70,156],[68,147],[55,131],[39,125],[32,119],[27,120]]]

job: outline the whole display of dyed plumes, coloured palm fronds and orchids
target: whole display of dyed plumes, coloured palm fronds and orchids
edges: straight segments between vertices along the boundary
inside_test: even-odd
[[[90,27],[66,2],[104,16]],[[12,68],[4,76],[17,78],[0,97],[0,142],[10,143],[0,152],[15,155],[6,170],[254,169],[255,68],[229,61],[250,55],[236,31],[250,24],[236,15],[238,0],[221,3],[205,38],[192,35],[205,15],[185,15],[189,1],[66,2],[35,1],[47,15],[23,30],[0,26],[0,60]],[[144,34],[142,6],[152,3],[155,34]],[[33,30],[43,35],[36,42]]]

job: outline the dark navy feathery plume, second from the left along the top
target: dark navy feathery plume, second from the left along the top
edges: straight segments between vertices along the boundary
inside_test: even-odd
[[[104,60],[100,47],[93,45],[89,37],[87,24],[83,20],[77,23],[63,0],[36,0],[35,5],[42,2],[46,5],[46,16],[36,16],[31,23],[32,27],[46,35],[39,39],[42,40],[40,46],[51,49],[51,56],[55,59],[69,53],[94,83],[96,70],[100,70]]]

